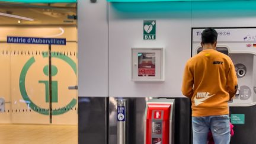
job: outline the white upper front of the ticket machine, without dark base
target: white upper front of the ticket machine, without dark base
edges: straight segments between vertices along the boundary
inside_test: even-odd
[[[193,29],[192,56],[199,53],[203,28]],[[256,104],[256,28],[216,28],[217,50],[231,57],[238,77],[238,91],[231,107]]]

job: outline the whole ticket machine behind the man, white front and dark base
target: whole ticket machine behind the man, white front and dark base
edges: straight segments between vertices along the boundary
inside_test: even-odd
[[[204,28],[193,28],[191,56],[202,48],[201,32]],[[256,133],[256,28],[215,28],[218,33],[217,50],[231,57],[238,91],[229,101],[231,123],[235,125],[235,136],[231,143],[255,143]]]

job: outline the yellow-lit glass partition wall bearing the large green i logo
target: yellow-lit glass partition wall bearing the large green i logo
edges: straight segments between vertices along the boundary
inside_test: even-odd
[[[0,15],[0,143],[77,143],[76,4],[0,3],[0,12],[33,19]],[[7,36],[66,45],[7,43]]]

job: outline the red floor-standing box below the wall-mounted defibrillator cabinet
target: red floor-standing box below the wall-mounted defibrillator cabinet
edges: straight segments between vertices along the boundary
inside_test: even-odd
[[[146,103],[144,144],[174,144],[174,99]]]

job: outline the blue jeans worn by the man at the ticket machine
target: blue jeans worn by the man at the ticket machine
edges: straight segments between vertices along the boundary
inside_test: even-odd
[[[229,116],[192,117],[193,144],[206,144],[209,130],[212,131],[215,144],[229,144]]]

